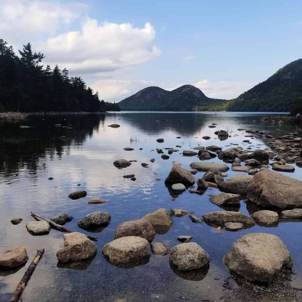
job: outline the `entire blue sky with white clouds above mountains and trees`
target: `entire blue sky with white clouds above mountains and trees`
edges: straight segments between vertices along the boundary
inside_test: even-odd
[[[0,0],[0,36],[108,101],[192,84],[234,98],[302,57],[301,1]]]

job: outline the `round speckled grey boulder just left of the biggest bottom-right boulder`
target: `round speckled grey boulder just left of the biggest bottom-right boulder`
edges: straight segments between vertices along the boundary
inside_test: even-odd
[[[180,271],[200,269],[210,262],[210,256],[195,242],[181,243],[174,246],[169,259]]]

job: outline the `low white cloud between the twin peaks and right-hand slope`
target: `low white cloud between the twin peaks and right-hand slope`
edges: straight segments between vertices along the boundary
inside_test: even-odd
[[[215,81],[210,82],[207,79],[193,84],[199,88],[209,98],[232,99],[237,98],[241,93],[252,88],[258,82],[235,82],[235,81]]]

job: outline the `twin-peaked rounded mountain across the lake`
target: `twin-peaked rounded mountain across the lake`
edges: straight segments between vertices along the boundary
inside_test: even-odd
[[[172,91],[151,86],[125,98],[118,105],[121,110],[194,111],[196,106],[206,107],[222,101],[225,100],[206,97],[192,85],[184,85]]]

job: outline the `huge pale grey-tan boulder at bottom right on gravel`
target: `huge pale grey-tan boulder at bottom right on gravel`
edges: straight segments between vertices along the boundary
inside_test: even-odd
[[[236,240],[223,262],[231,273],[264,284],[276,278],[281,268],[293,267],[291,255],[281,239],[264,233],[251,233]]]

